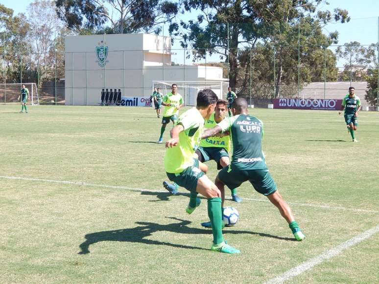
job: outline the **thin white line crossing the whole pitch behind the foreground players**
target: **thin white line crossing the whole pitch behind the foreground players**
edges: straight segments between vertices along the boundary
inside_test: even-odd
[[[88,186],[88,187],[127,189],[127,190],[136,190],[136,191],[142,191],[142,192],[157,192],[157,193],[166,193],[167,192],[166,190],[134,188],[134,187],[127,187],[127,186],[123,186],[123,185],[104,185],[104,184],[87,183],[87,182],[83,182],[83,181],[68,181],[68,180],[31,178],[31,177],[7,176],[7,175],[0,175],[0,178],[16,179],[16,180],[28,180],[28,181],[40,181],[40,182],[50,182],[50,183],[61,183],[61,184],[73,184],[73,185]],[[186,192],[181,193],[181,194],[182,195],[189,195],[189,193],[186,193]],[[249,201],[256,201],[256,202],[269,202],[267,199],[258,199],[258,198],[243,198],[243,199],[249,200]],[[361,213],[379,213],[379,211],[376,211],[376,210],[336,207],[336,206],[323,205],[323,204],[310,204],[310,203],[297,203],[297,202],[287,202],[287,203],[291,204],[291,205],[295,205],[295,206],[315,207],[315,208],[323,208],[323,209],[330,209],[330,210],[336,210],[336,211],[352,211],[352,212],[361,212]]]

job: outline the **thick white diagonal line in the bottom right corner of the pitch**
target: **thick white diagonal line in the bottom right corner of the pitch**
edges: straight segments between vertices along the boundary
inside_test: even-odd
[[[373,227],[371,229],[368,229],[367,231],[363,232],[362,234],[354,237],[353,239],[347,240],[335,247],[333,247],[330,250],[327,250],[326,252],[320,254],[319,256],[312,258],[308,260],[307,262],[303,262],[302,264],[284,272],[283,274],[265,282],[265,284],[277,284],[277,283],[284,283],[285,281],[290,280],[291,278],[302,274],[303,272],[306,272],[309,269],[312,269],[315,265],[320,264],[321,262],[324,262],[325,260],[328,260],[336,255],[339,255],[342,251],[345,249],[363,241],[371,236],[375,235],[379,232],[379,226]]]

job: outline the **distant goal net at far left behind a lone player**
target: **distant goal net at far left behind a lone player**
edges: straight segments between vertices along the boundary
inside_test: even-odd
[[[0,103],[15,103],[21,94],[22,85],[29,90],[29,102],[31,105],[39,105],[40,98],[38,95],[38,89],[36,83],[0,83]]]

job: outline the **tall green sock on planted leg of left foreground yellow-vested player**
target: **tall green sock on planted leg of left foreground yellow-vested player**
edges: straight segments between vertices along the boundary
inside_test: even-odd
[[[208,217],[212,224],[213,243],[219,244],[224,241],[222,236],[222,214],[221,198],[213,197],[208,199]]]

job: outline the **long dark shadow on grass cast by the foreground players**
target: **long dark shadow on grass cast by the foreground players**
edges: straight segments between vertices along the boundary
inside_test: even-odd
[[[168,217],[170,219],[178,220],[179,223],[171,223],[171,224],[157,224],[151,222],[136,222],[136,224],[140,225],[134,228],[125,228],[119,230],[112,231],[102,231],[85,235],[86,240],[79,245],[80,252],[78,254],[89,254],[89,247],[92,244],[95,244],[100,241],[128,241],[128,242],[140,242],[144,244],[154,244],[154,245],[166,245],[177,248],[187,248],[187,249],[200,249],[200,250],[208,250],[203,247],[190,246],[185,244],[175,244],[167,241],[159,241],[159,240],[149,240],[145,239],[149,236],[152,236],[155,232],[167,231],[178,234],[212,234],[211,229],[203,229],[203,228],[191,228],[188,225],[191,223],[188,220],[183,220],[179,218]],[[283,238],[278,236],[273,236],[269,234],[257,233],[257,232],[249,232],[249,231],[237,231],[237,230],[224,230],[225,234],[251,234],[251,235],[259,235],[262,237],[274,238],[279,240],[293,240],[290,238]]]

